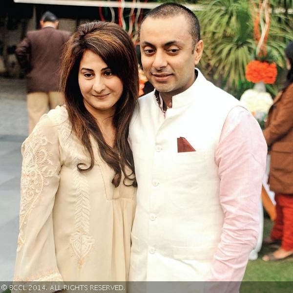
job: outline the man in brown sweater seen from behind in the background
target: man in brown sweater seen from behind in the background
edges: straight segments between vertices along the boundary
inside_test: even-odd
[[[16,57],[27,73],[27,110],[29,133],[48,110],[63,103],[59,89],[59,66],[63,44],[70,33],[57,30],[57,17],[47,11],[41,29],[28,32],[16,48]]]

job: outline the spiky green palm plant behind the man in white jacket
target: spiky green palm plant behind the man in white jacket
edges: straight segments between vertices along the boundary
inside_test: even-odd
[[[245,67],[255,57],[250,1],[212,0],[199,4],[202,10],[197,15],[205,43],[202,62],[205,73],[226,90],[237,88],[245,82]],[[282,67],[291,30],[283,12],[274,10],[277,5],[272,5],[267,51],[270,59]]]

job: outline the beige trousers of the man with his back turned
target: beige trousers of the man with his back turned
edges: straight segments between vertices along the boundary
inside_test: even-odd
[[[61,92],[33,92],[26,96],[28,111],[28,128],[31,133],[42,117],[49,109],[55,109],[58,105],[63,105],[63,94]]]

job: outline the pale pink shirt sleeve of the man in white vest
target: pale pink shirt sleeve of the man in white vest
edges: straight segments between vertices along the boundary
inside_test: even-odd
[[[225,218],[209,281],[241,281],[244,276],[259,232],[258,202],[266,155],[267,144],[257,121],[243,107],[234,107],[215,151]]]

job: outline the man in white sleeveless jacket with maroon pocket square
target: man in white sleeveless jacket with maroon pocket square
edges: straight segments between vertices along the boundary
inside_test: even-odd
[[[241,281],[258,235],[266,142],[251,114],[209,83],[186,7],[165,3],[140,31],[155,91],[129,128],[138,182],[130,281]]]

